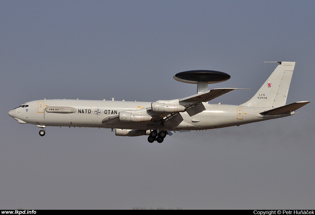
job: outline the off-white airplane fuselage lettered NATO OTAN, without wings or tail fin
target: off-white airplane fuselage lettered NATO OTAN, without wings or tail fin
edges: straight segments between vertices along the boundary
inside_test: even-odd
[[[115,123],[111,121],[102,122],[106,117],[117,116],[119,112],[125,110],[144,110],[151,106],[151,102],[53,99],[31,101],[25,104],[28,107],[18,107],[9,112],[9,115],[21,124],[141,130],[155,130],[157,128],[157,124],[154,121],[126,123],[116,120]],[[180,113],[184,120],[174,130],[223,128],[294,114],[293,112],[264,116],[260,113],[268,108],[203,104],[206,110],[192,117],[186,112]],[[155,115],[150,110],[146,112],[149,115]],[[163,124],[159,124],[158,127],[164,129]]]

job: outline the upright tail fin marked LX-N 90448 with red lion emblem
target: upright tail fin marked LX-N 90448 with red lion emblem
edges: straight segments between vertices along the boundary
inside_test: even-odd
[[[249,101],[241,104],[250,107],[276,108],[285,105],[295,62],[279,63],[259,91]]]

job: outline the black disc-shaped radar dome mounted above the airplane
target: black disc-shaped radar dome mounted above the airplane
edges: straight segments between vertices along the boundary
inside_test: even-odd
[[[207,82],[208,84],[213,84],[229,80],[231,76],[214,70],[190,70],[179,72],[173,78],[185,83],[197,84],[198,82]]]

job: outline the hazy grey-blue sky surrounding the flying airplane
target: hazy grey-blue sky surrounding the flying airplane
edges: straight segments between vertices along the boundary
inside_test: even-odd
[[[295,115],[162,144],[110,129],[19,124],[38,99],[149,101],[196,93],[173,75],[231,79],[242,104],[295,61],[287,104],[315,101],[314,1],[0,1],[0,209],[314,209],[314,102]]]

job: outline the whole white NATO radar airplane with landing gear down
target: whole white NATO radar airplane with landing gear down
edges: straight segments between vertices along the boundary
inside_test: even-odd
[[[208,130],[240,126],[291,116],[311,101],[286,105],[295,62],[279,63],[256,94],[240,105],[209,104],[208,101],[236,89],[208,90],[208,84],[231,76],[213,70],[191,70],[174,79],[197,84],[197,94],[156,102],[42,99],[26,102],[9,111],[20,124],[34,124],[45,135],[46,126],[94,127],[115,129],[117,136],[148,135],[148,142],[162,143],[176,131]]]

